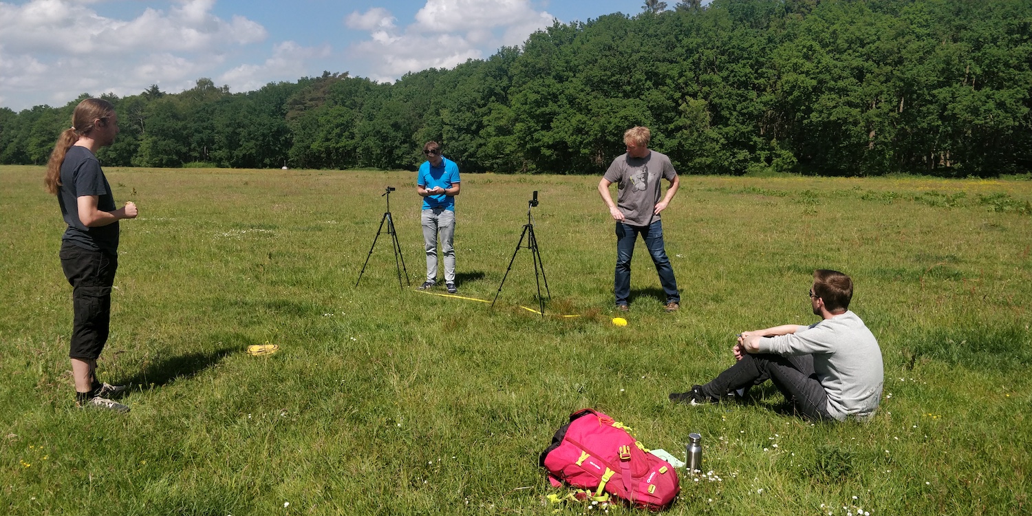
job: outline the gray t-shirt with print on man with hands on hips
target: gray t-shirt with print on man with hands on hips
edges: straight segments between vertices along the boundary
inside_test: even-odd
[[[618,187],[616,207],[623,214],[623,223],[648,226],[659,220],[652,215],[660,198],[659,180],[674,181],[677,170],[666,154],[649,151],[644,158],[632,158],[624,153],[609,165],[605,178]]]

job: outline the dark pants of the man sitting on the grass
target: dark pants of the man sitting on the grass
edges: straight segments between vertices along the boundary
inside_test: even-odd
[[[705,395],[719,398],[733,390],[760,385],[768,379],[795,406],[797,412],[810,419],[832,419],[828,413],[828,392],[813,372],[812,355],[746,354],[700,390]]]

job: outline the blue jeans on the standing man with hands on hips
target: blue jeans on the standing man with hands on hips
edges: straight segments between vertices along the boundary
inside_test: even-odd
[[[677,292],[677,280],[674,279],[674,267],[667,258],[663,244],[663,222],[655,221],[649,226],[631,226],[622,222],[616,223],[616,273],[613,282],[613,293],[616,304],[626,304],[631,296],[631,258],[635,255],[635,243],[638,235],[645,238],[645,247],[652,256],[655,271],[659,273],[659,284],[667,294],[667,302],[681,302]]]

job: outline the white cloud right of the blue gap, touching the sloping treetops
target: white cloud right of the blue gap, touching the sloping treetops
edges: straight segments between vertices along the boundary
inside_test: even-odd
[[[415,18],[416,23],[398,29],[382,7],[347,17],[347,27],[369,32],[351,54],[368,63],[370,78],[394,80],[410,71],[480,59],[502,45],[522,43],[554,20],[535,10],[529,0],[427,0]]]

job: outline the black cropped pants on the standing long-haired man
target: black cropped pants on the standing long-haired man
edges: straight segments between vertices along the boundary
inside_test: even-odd
[[[92,360],[107,343],[111,319],[111,285],[119,258],[72,244],[61,246],[61,268],[72,286],[74,322],[68,356]]]

